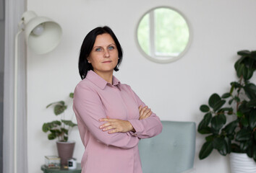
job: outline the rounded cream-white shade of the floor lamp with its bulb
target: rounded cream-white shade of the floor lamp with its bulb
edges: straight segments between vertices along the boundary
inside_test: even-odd
[[[61,40],[61,27],[48,17],[38,17],[27,11],[22,15],[25,25],[25,39],[33,52],[38,54],[54,50]]]

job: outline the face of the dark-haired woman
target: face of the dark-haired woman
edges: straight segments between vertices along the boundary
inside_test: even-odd
[[[111,35],[98,35],[87,59],[96,74],[113,73],[118,63],[118,50]]]

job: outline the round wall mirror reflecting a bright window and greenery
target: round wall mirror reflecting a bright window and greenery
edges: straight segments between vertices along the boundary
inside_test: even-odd
[[[187,19],[176,9],[157,7],[140,19],[136,37],[145,57],[156,63],[170,63],[187,51],[191,30]]]

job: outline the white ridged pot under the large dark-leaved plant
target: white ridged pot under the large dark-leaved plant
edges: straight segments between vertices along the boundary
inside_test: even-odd
[[[247,154],[229,154],[231,173],[255,173],[256,163]]]

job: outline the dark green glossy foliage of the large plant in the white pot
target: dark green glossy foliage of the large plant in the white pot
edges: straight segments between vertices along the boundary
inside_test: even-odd
[[[199,158],[205,159],[213,149],[226,156],[231,152],[246,153],[256,161],[256,86],[252,79],[256,69],[256,51],[242,50],[234,68],[238,77],[229,92],[221,97],[212,94],[197,131],[206,134]],[[227,117],[230,117],[227,121]]]

